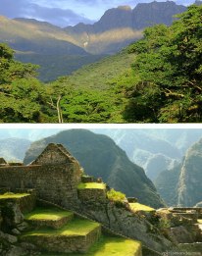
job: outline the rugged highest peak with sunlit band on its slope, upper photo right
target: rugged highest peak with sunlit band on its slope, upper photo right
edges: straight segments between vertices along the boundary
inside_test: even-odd
[[[137,4],[132,10],[120,6],[105,12],[94,25],[78,24],[64,28],[90,53],[115,53],[139,39],[142,30],[157,24],[171,25],[174,16],[186,10],[173,1]],[[80,45],[81,46],[81,45]]]

